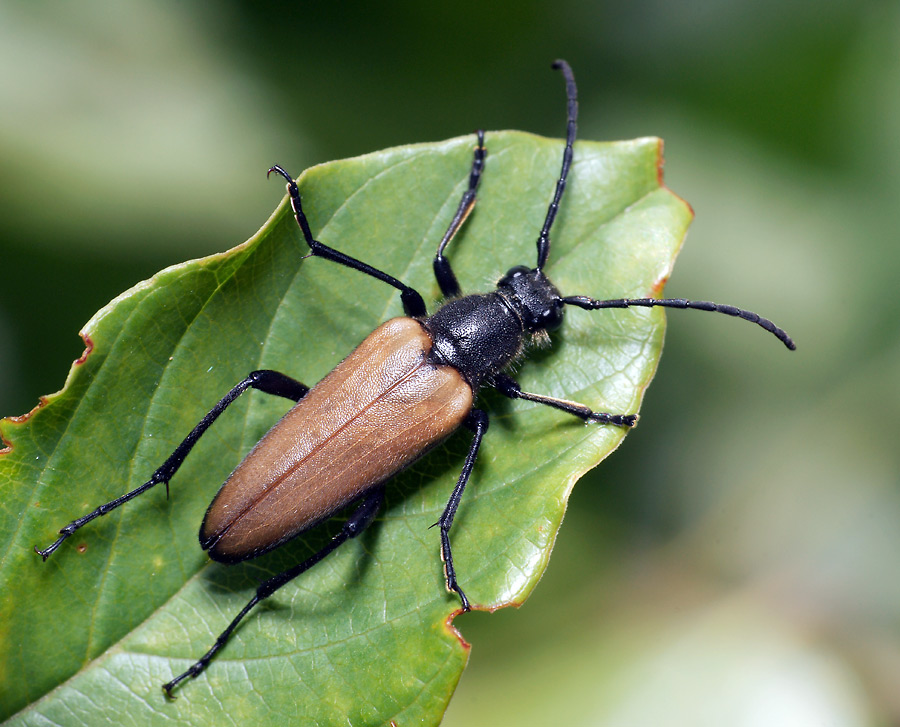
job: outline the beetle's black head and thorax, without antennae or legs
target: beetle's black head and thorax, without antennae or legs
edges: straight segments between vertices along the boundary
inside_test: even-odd
[[[424,322],[431,358],[453,366],[474,390],[521,355],[525,340],[562,320],[559,291],[539,270],[513,268],[497,290],[445,303]]]

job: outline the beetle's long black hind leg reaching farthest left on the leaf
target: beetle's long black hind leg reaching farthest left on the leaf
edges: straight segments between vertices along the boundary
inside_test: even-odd
[[[216,404],[209,411],[209,413],[200,420],[200,423],[196,427],[194,427],[191,433],[184,438],[184,441],[175,448],[175,451],[172,452],[171,455],[169,455],[169,458],[162,463],[159,469],[157,469],[156,472],[154,472],[150,476],[150,479],[147,480],[143,485],[125,495],[122,495],[122,497],[116,498],[111,502],[107,502],[104,505],[101,505],[96,510],[88,513],[84,517],[73,520],[68,525],[66,525],[66,527],[59,531],[60,536],[56,540],[56,542],[53,543],[53,545],[44,550],[40,550],[39,548],[35,547],[35,552],[38,553],[38,555],[40,555],[44,560],[47,560],[50,554],[60,545],[62,545],[63,541],[76,530],[87,525],[94,518],[98,518],[101,515],[106,515],[106,513],[110,512],[111,510],[115,510],[117,507],[119,507],[119,505],[123,505],[124,503],[137,497],[141,493],[146,492],[151,487],[158,485],[160,482],[166,483],[166,497],[168,497],[169,480],[172,478],[172,475],[174,475],[178,471],[178,468],[181,467],[181,463],[184,462],[185,457],[187,457],[188,453],[197,443],[197,440],[200,439],[203,433],[207,429],[209,429],[210,425],[219,418],[219,414],[225,411],[228,405],[231,404],[235,399],[237,399],[241,394],[243,394],[247,389],[257,389],[259,391],[265,392],[266,394],[283,396],[286,399],[291,399],[293,401],[300,401],[300,399],[306,396],[306,392],[309,391],[308,386],[304,386],[299,381],[292,379],[290,376],[279,373],[278,371],[254,371],[246,379],[241,381],[237,386],[235,386],[231,391],[229,391],[225,396],[222,397],[221,401],[219,401],[219,403]]]

